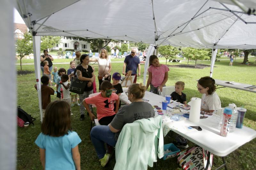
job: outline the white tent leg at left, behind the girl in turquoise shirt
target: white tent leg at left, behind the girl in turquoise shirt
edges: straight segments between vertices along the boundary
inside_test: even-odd
[[[43,122],[42,98],[41,98],[40,45],[41,45],[41,36],[33,36],[33,51],[34,51],[35,73],[36,73],[36,86],[37,86],[37,93],[38,93],[40,117],[41,117],[41,122]]]

